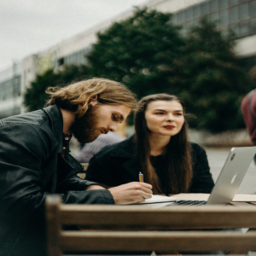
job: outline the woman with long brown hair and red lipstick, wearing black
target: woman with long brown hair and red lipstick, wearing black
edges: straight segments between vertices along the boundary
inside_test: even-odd
[[[213,188],[207,154],[189,143],[183,101],[155,94],[138,102],[135,135],[102,150],[91,160],[86,179],[110,187],[139,180],[154,194],[210,193]]]

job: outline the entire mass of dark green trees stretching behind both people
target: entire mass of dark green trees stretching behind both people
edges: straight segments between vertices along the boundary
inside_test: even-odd
[[[154,93],[181,96],[186,112],[197,119],[189,126],[212,132],[244,128],[240,104],[253,89],[233,52],[234,41],[202,18],[186,38],[171,23],[171,14],[136,9],[127,20],[98,33],[88,55],[89,67],[48,71],[32,83],[26,106],[42,108],[44,90],[74,79],[102,77],[126,84],[138,98]],[[84,77],[85,76],[85,77]]]

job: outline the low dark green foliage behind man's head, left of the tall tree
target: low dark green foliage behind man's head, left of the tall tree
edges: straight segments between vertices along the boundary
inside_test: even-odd
[[[64,86],[73,81],[87,78],[88,68],[85,66],[69,66],[58,73],[49,70],[42,75],[38,75],[37,79],[32,82],[32,86],[26,90],[24,104],[30,111],[44,108],[49,97],[45,93],[48,87]]]

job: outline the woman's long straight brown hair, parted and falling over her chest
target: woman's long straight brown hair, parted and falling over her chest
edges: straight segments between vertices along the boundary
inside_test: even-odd
[[[135,136],[137,142],[137,155],[142,164],[144,180],[153,185],[155,194],[178,194],[188,192],[192,180],[192,164],[190,156],[190,143],[188,142],[188,125],[184,121],[181,131],[166,146],[165,158],[167,162],[166,184],[160,186],[159,178],[150,162],[149,130],[145,119],[145,112],[150,102],[166,101],[179,102],[183,107],[181,98],[168,94],[154,94],[143,97],[137,105],[134,115]],[[164,191],[163,191],[164,190]]]

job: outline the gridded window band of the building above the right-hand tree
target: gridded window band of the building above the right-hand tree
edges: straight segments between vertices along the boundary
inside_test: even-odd
[[[216,21],[219,30],[226,33],[231,29],[236,38],[245,38],[256,34],[255,0],[210,0],[181,9],[172,16],[172,22],[183,26],[186,33],[195,26],[201,16],[207,15]]]

